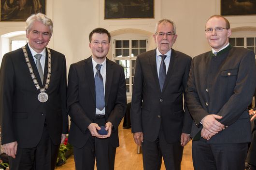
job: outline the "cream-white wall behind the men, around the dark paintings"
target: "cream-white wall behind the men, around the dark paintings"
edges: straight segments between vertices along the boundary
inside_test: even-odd
[[[138,29],[154,33],[161,18],[172,19],[177,26],[178,39],[173,48],[196,56],[210,50],[204,26],[213,14],[220,14],[220,0],[155,0],[155,19],[104,20],[104,0],[47,0],[46,14],[54,22],[50,48],[66,55],[67,66],[90,56],[88,35],[96,27],[111,33],[119,29]],[[256,15],[228,16],[231,28],[256,26]],[[24,22],[0,22],[0,35],[24,30]],[[154,48],[153,39],[149,47]],[[111,53],[111,52],[110,52]]]

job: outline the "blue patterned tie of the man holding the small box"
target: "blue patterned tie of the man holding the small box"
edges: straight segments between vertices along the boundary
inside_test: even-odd
[[[96,94],[96,107],[101,111],[105,107],[105,95],[103,78],[100,74],[100,68],[102,65],[96,65],[97,73],[95,75],[95,94]]]

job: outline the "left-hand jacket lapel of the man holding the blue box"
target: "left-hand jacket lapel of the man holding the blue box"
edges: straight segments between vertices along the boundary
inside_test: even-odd
[[[85,78],[86,78],[86,81],[88,82],[88,84],[90,86],[93,101],[96,101],[96,98],[95,98],[95,81],[94,81],[94,73],[93,73],[93,66],[92,66],[91,56],[85,60]]]

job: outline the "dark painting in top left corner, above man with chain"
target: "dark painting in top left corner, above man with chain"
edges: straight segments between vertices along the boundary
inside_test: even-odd
[[[44,13],[46,0],[1,0],[1,21],[26,21],[33,13]]]

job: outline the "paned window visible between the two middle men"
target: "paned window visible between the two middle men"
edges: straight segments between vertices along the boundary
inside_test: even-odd
[[[136,57],[147,51],[147,39],[114,39],[113,59],[124,67],[126,92],[131,94]]]

